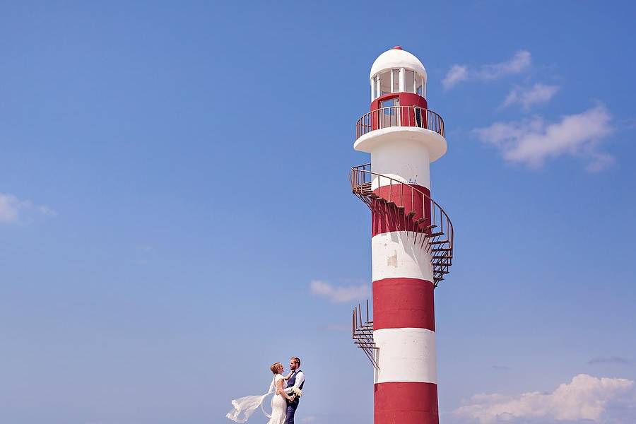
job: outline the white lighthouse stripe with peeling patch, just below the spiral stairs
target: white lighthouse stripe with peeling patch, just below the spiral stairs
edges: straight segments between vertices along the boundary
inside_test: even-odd
[[[420,237],[421,238],[421,237]],[[432,281],[432,265],[413,233],[384,232],[371,238],[372,280],[420,278]]]

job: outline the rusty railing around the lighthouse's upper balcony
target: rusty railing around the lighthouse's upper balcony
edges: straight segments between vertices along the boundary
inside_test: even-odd
[[[444,119],[432,110],[418,106],[389,106],[363,115],[355,124],[355,139],[391,126],[415,126],[444,136]]]

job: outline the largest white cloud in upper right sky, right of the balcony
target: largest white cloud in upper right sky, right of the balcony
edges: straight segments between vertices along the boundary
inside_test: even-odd
[[[585,158],[587,170],[597,172],[613,163],[613,157],[599,151],[599,143],[613,131],[611,114],[598,105],[585,112],[563,117],[553,124],[541,117],[513,122],[495,122],[473,130],[483,143],[500,149],[512,163],[540,167],[547,158],[571,155]]]

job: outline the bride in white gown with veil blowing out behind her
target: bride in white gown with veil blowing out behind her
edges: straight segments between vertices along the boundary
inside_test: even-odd
[[[263,401],[269,394],[274,394],[271,398],[271,416],[269,416],[265,410],[263,412],[269,418],[267,424],[284,424],[287,417],[287,401],[293,401],[295,396],[289,396],[285,393],[287,388],[287,380],[291,376],[291,372],[288,375],[283,376],[285,367],[281,363],[274,363],[269,367],[273,372],[273,380],[269,386],[269,391],[261,396],[245,396],[232,401],[234,409],[226,415],[230,420],[235,423],[245,423],[247,418],[252,416],[252,413],[259,406],[263,408]],[[286,400],[285,400],[286,399]]]

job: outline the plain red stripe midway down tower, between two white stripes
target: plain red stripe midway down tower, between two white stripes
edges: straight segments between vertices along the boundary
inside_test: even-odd
[[[373,329],[435,331],[433,283],[418,278],[384,278],[373,282]]]

